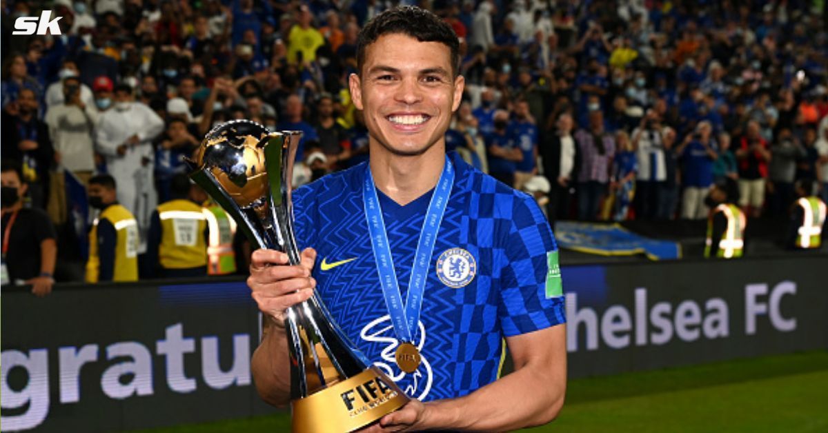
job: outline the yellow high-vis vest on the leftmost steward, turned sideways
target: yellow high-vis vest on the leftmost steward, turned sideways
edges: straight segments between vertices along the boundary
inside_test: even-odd
[[[112,204],[98,216],[89,230],[89,259],[86,261],[86,282],[98,282],[98,224],[106,219],[115,228],[115,262],[112,281],[138,281],[138,222],[129,210]]]

